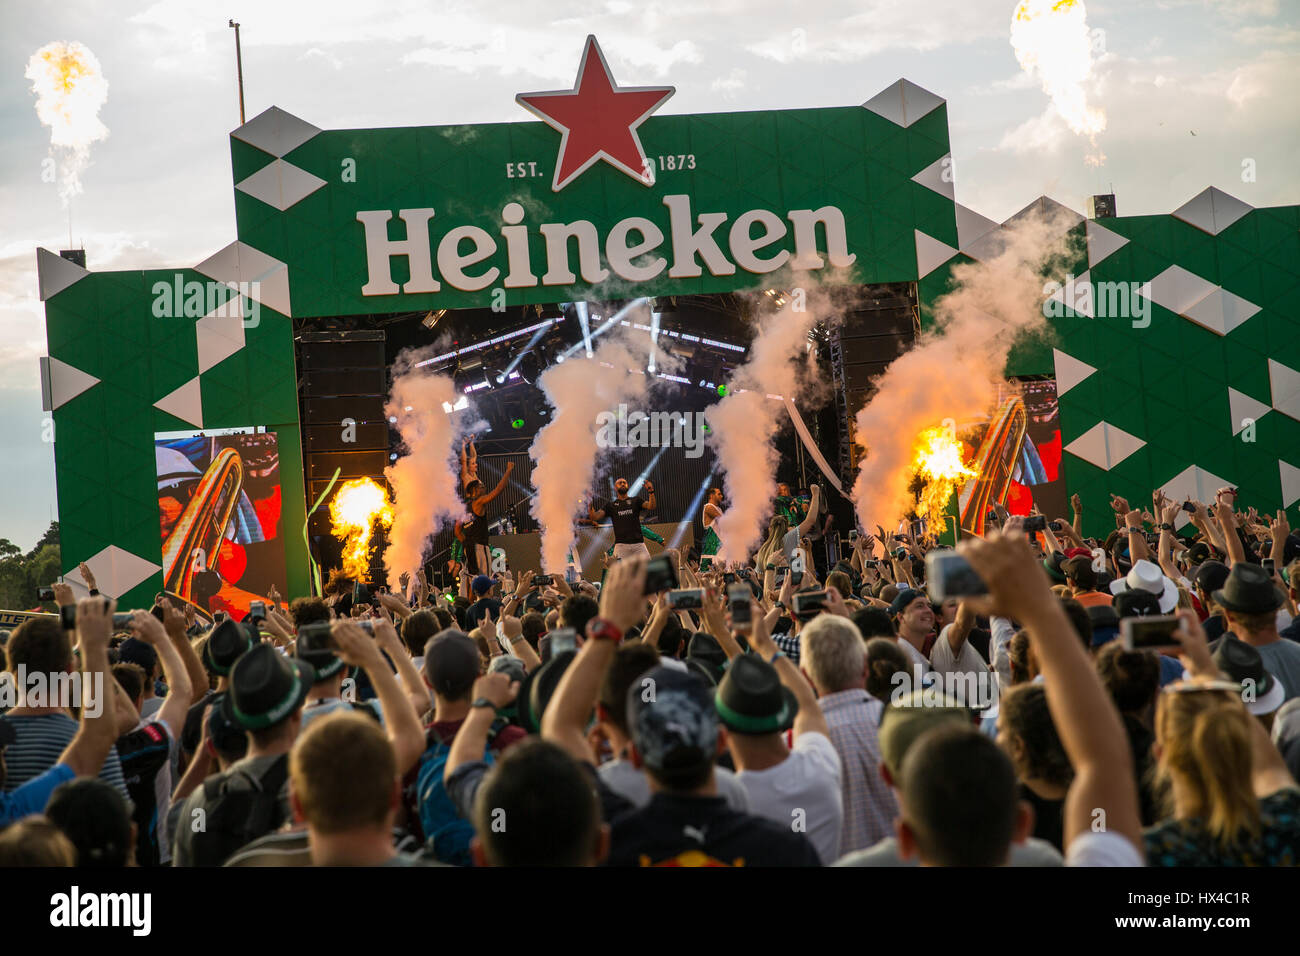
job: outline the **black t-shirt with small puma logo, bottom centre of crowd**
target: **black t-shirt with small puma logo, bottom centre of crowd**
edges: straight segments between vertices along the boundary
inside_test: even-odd
[[[725,797],[655,793],[614,821],[608,866],[819,866],[803,834]]]

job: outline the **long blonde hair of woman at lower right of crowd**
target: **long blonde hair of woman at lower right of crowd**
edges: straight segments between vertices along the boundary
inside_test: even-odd
[[[1251,721],[1231,691],[1167,691],[1156,708],[1161,756],[1157,782],[1187,797],[1186,818],[1200,818],[1219,845],[1260,832],[1260,801],[1251,783]]]

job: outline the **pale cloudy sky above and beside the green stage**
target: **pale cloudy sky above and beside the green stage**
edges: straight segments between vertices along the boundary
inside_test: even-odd
[[[35,250],[92,271],[192,265],[235,238],[229,134],[278,105],[322,129],[530,120],[515,94],[568,88],[595,34],[616,82],[672,85],[662,114],[844,107],[900,77],[948,100],[957,200],[1002,221],[1040,195],[1167,213],[1204,190],[1300,203],[1300,0],[1087,3],[1072,133],[1010,42],[1014,0],[0,0],[0,537],[57,518]],[[75,40],[108,81],[83,193],[44,182],[29,57]],[[1253,181],[1243,181],[1243,164]]]

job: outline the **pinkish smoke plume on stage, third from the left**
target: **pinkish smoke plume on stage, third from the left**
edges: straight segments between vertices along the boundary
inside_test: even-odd
[[[722,542],[719,561],[749,561],[762,542],[780,463],[774,440],[789,418],[785,403],[768,395],[793,399],[815,388],[816,378],[810,375],[815,354],[806,359],[805,354],[809,330],[824,317],[820,297],[814,303],[810,295],[806,303],[794,299],[763,319],[727,395],[705,411],[727,497],[727,510],[714,523]]]

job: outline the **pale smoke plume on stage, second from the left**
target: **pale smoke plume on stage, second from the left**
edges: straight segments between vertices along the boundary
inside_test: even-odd
[[[608,332],[597,341],[592,358],[569,358],[547,368],[537,380],[554,410],[550,423],[528,449],[537,489],[530,511],[541,525],[546,574],[564,571],[573,545],[578,501],[588,494],[595,476],[597,416],[646,394],[646,376],[628,369],[646,367],[649,339],[634,345]]]

